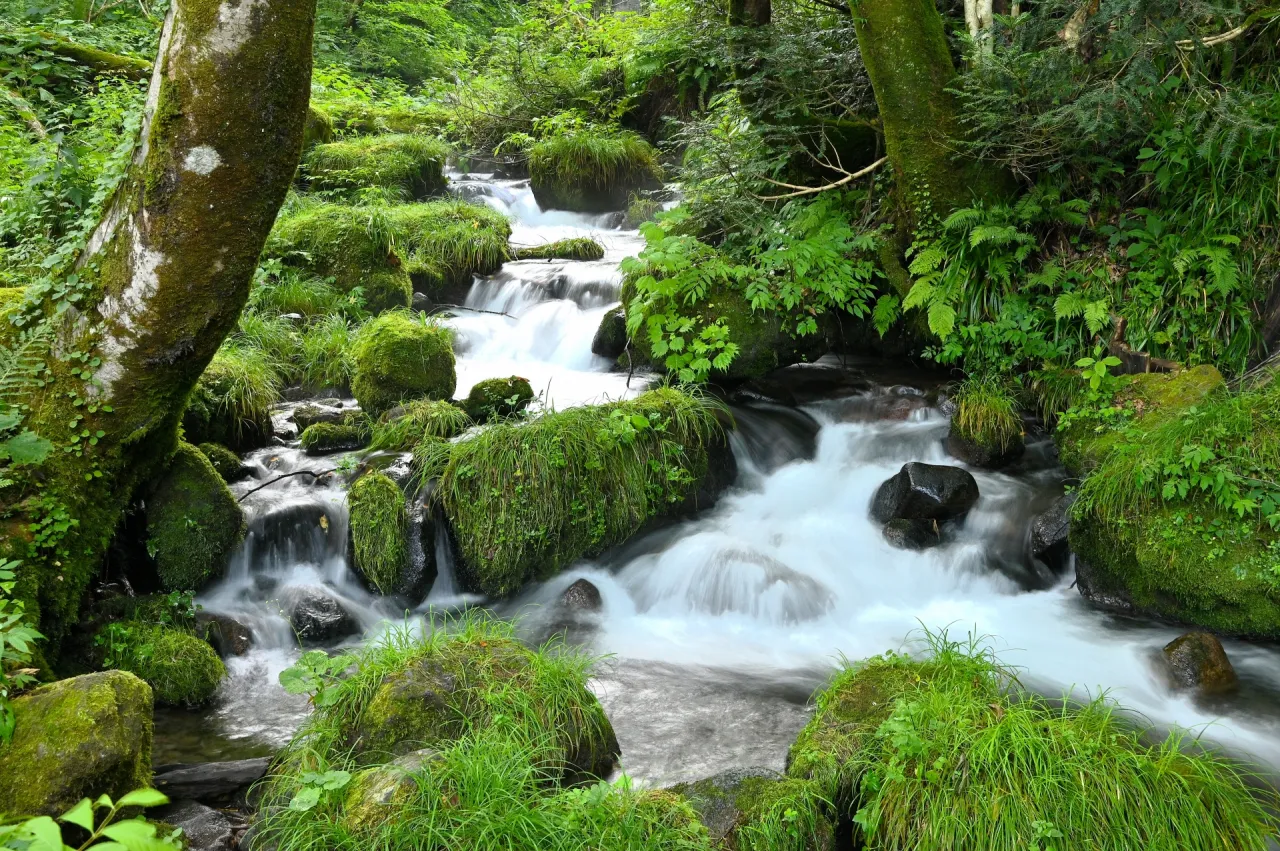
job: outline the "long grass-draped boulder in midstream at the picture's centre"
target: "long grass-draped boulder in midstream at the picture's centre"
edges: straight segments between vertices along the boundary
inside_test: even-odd
[[[419,461],[424,471],[443,467],[435,499],[453,522],[466,581],[504,596],[686,500],[718,430],[712,399],[664,388],[497,424],[431,444]]]

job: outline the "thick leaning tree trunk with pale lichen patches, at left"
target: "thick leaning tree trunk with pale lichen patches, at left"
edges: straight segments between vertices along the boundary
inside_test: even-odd
[[[174,0],[138,148],[76,264],[84,294],[45,306],[24,425],[55,450],[3,491],[0,555],[23,561],[51,653],[248,297],[302,151],[314,26],[315,0]]]

